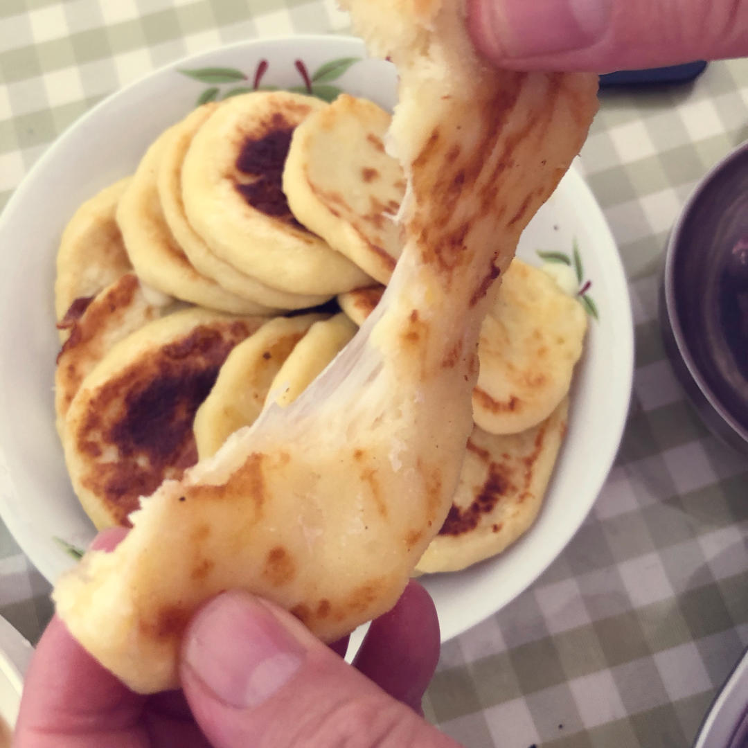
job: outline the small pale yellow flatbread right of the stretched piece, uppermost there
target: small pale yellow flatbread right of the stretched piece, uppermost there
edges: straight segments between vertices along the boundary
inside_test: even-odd
[[[571,386],[587,317],[545,272],[513,260],[483,321],[473,418],[492,434],[545,420]]]

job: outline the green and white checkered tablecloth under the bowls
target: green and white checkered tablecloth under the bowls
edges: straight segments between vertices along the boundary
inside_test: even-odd
[[[1,0],[0,207],[65,127],[155,67],[347,28],[333,0]],[[669,228],[696,181],[748,138],[748,61],[601,100],[581,162],[630,283],[631,416],[562,556],[442,649],[426,715],[468,747],[682,748],[748,644],[748,460],[684,400],[657,322]],[[32,641],[51,613],[49,586],[4,527],[0,613]]]

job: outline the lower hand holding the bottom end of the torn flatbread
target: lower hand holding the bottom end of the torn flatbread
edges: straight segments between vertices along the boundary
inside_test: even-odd
[[[435,609],[417,583],[373,622],[355,668],[286,611],[227,592],[188,626],[183,692],[147,697],[55,618],[26,677],[13,746],[459,748],[417,714],[438,648]]]

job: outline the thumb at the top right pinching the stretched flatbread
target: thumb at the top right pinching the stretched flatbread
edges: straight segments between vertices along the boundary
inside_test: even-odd
[[[478,49],[515,70],[662,67],[748,54],[748,0],[468,0]]]

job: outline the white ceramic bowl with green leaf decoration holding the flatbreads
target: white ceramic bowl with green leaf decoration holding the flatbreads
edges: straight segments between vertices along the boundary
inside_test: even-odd
[[[390,108],[396,100],[390,64],[366,59],[329,64],[364,57],[364,46],[355,39],[292,37],[239,43],[180,61],[93,108],[49,148],[13,194],[0,218],[0,316],[5,321],[0,328],[0,513],[49,580],[73,563],[55,536],[79,546],[93,537],[70,489],[53,416],[58,340],[52,284],[64,225],[83,200],[132,173],[147,145],[183,117],[198,96],[251,87],[263,70],[263,85],[290,88],[303,84],[296,64],[302,61],[316,76],[317,93],[334,93],[334,86]],[[185,70],[191,77],[179,72]],[[497,559],[425,580],[445,640],[506,605],[560,554],[603,485],[628,411],[633,335],[625,276],[601,210],[574,170],[522,237],[521,257],[539,264],[537,251],[565,254],[572,267],[577,265],[580,286],[592,283],[586,297],[594,298],[599,319],[591,320],[574,381],[568,437],[535,526]]]

